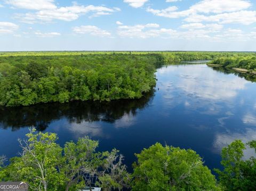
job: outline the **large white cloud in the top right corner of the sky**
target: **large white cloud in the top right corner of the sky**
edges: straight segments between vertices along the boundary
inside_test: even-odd
[[[203,0],[183,11],[177,11],[178,7],[170,6],[162,10],[148,7],[147,12],[166,18],[187,17],[187,22],[252,24],[256,22],[256,11],[246,10],[251,6],[249,1],[244,0]]]

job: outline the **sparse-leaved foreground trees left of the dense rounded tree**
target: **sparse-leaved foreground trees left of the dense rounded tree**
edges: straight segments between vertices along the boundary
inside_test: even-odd
[[[44,191],[77,190],[93,184],[102,190],[129,187],[130,175],[115,149],[96,152],[99,143],[89,137],[67,142],[62,148],[56,134],[36,133],[35,129],[27,137],[19,140],[22,152],[9,165],[3,167],[5,158],[0,157],[0,181],[26,181],[31,190]]]

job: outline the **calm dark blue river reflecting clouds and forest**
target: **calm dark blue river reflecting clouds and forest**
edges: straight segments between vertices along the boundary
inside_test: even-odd
[[[155,90],[139,100],[0,109],[0,155],[17,155],[17,139],[33,125],[56,132],[61,145],[89,135],[100,140],[101,151],[115,147],[129,170],[134,153],[156,142],[191,148],[212,169],[220,167],[223,146],[256,139],[255,82],[198,63],[169,65],[156,74]]]

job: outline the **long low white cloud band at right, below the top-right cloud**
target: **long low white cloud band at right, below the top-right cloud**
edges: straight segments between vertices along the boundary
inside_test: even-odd
[[[172,38],[172,39],[206,39],[211,41],[250,41],[256,39],[256,32],[244,32],[241,29],[225,29],[222,24],[189,23],[183,24],[181,29],[161,28],[159,24],[137,24],[134,26],[118,26],[117,35],[127,38]]]

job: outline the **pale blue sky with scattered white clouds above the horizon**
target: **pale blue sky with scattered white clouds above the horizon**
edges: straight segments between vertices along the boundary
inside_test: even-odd
[[[256,51],[255,0],[0,0],[0,51]]]

